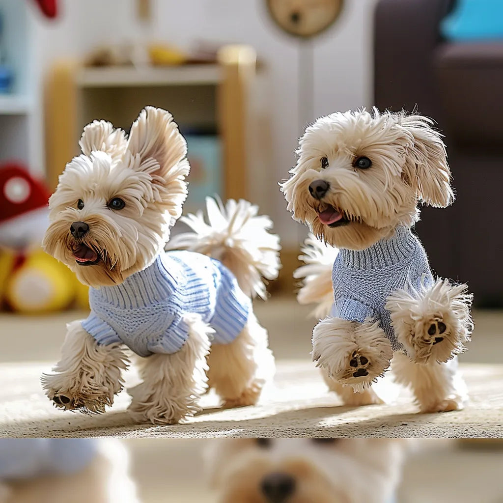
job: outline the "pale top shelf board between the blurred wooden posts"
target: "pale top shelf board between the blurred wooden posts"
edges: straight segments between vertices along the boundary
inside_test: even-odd
[[[134,86],[200,86],[216,85],[222,80],[217,64],[194,64],[171,67],[110,67],[82,68],[76,83],[81,88]]]

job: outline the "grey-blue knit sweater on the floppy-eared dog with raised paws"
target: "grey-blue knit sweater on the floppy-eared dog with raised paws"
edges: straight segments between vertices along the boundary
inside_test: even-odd
[[[341,249],[332,269],[334,307],[331,314],[363,322],[379,321],[393,351],[403,350],[391,326],[386,299],[397,289],[418,290],[433,283],[428,257],[407,227],[364,250]]]

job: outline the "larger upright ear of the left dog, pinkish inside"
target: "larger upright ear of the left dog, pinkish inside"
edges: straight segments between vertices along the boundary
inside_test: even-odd
[[[145,107],[133,122],[125,156],[134,171],[148,173],[172,224],[182,213],[189,174],[187,142],[166,110]]]

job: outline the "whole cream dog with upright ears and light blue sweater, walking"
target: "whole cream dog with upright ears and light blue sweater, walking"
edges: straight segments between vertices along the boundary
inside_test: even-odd
[[[164,253],[189,173],[171,114],[146,107],[128,138],[95,121],[80,146],[49,200],[43,245],[91,286],[91,314],[68,325],[56,373],[42,378],[47,396],[62,409],[103,412],[122,388],[127,346],[142,357],[142,382],[129,390],[137,422],[193,415],[208,386],[227,406],[255,404],[274,374],[250,302],[280,267],[271,220],[246,201],[208,200],[210,225],[188,217],[196,232],[178,236],[193,251]]]

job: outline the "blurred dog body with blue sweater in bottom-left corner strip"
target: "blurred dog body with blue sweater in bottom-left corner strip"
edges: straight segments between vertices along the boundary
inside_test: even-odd
[[[115,439],[0,440],[0,503],[139,503]]]

